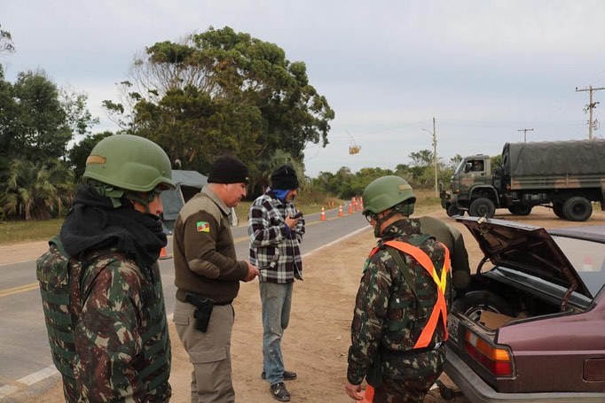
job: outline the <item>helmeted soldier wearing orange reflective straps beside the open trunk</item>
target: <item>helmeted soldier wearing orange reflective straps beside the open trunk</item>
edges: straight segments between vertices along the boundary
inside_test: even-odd
[[[421,402],[444,364],[449,251],[409,218],[416,198],[404,179],[371,182],[363,200],[380,239],[359,284],[345,391],[362,399],[365,378],[374,402]]]

